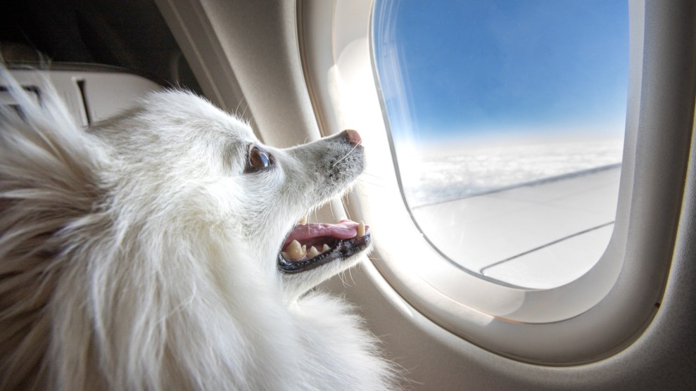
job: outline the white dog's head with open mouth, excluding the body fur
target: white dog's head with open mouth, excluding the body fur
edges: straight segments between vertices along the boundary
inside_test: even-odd
[[[93,130],[122,162],[111,173],[119,182],[114,197],[127,198],[116,204],[132,209],[120,215],[154,218],[148,224],[177,232],[229,234],[265,273],[279,277],[290,297],[369,250],[369,227],[362,223],[302,222],[362,172],[357,132],[277,149],[262,145],[248,124],[191,94],[168,91],[143,103]]]

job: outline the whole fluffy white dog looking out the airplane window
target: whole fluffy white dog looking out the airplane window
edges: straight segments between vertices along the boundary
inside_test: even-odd
[[[296,225],[362,172],[357,132],[270,148],[182,91],[80,129],[0,82],[20,106],[0,113],[0,389],[396,387],[353,309],[310,290],[369,231]]]

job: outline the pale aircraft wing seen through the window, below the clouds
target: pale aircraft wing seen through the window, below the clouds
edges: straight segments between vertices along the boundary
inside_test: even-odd
[[[588,271],[614,228],[620,167],[412,208],[431,243],[462,267],[526,288]]]

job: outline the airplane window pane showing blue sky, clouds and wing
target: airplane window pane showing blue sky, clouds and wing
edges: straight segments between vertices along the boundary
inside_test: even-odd
[[[403,196],[445,258],[554,288],[612,235],[625,1],[381,0],[374,62]]]

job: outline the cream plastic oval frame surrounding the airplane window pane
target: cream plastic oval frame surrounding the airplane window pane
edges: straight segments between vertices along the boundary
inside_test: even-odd
[[[659,308],[688,162],[693,108],[673,103],[692,99],[692,91],[672,88],[685,72],[684,60],[671,49],[676,45],[662,44],[692,35],[679,23],[678,10],[640,1],[629,5],[624,167],[605,254],[576,281],[533,290],[453,267],[413,223],[375,82],[373,6],[372,1],[299,1],[297,12],[300,58],[319,128],[324,135],[363,129],[373,179],[358,184],[346,198],[346,210],[372,225],[377,240],[371,258],[380,274],[373,277],[388,283],[377,285],[396,290],[448,331],[522,361],[581,364],[629,345]],[[381,183],[371,184],[374,178]],[[653,238],[654,229],[666,234]]]

